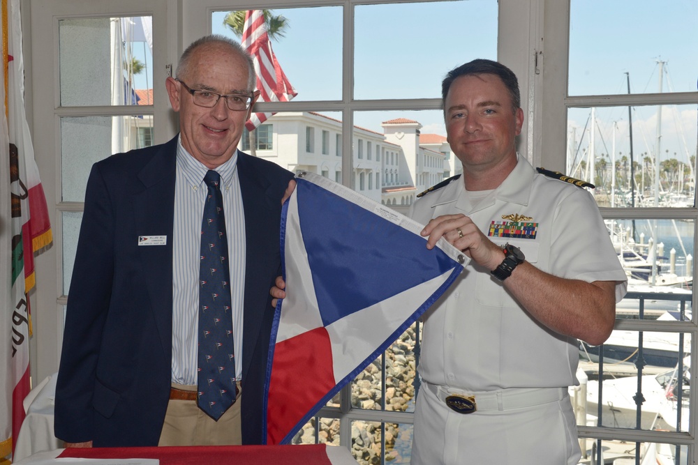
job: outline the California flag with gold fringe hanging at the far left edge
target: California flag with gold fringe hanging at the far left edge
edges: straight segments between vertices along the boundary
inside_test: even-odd
[[[0,457],[14,450],[29,393],[30,315],[34,252],[52,241],[46,199],[24,114],[20,0],[2,2],[3,62],[0,106]]]

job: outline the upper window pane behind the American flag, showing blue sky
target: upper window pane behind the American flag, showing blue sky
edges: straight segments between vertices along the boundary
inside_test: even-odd
[[[272,38],[274,55],[288,81],[297,91],[294,100],[339,100],[342,96],[342,8],[275,8],[283,16],[285,28]],[[224,24],[230,11],[211,13],[211,31],[239,40],[239,29]],[[311,70],[311,71],[310,71]],[[260,101],[262,101],[260,99]]]

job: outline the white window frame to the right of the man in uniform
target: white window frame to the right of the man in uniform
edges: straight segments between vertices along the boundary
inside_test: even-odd
[[[567,110],[577,107],[617,107],[661,104],[698,104],[698,92],[685,93],[636,93],[602,96],[570,96],[567,92],[569,69],[569,29],[570,29],[570,1],[545,1],[546,9],[544,21],[544,36],[546,38],[543,49],[536,51],[536,71],[533,87],[541,89],[533,97],[536,108],[534,128],[539,130],[532,145],[540,146],[540,165],[551,167],[556,171],[565,172],[567,153]],[[541,43],[542,38],[541,38]],[[531,85],[529,83],[529,85]],[[542,89],[545,89],[543,92]],[[527,115],[528,116],[528,115]],[[529,121],[530,125],[530,121]],[[695,167],[694,167],[695,168]],[[698,245],[698,209],[697,208],[608,208],[600,207],[604,219],[648,219],[648,220],[692,220],[694,225],[694,250]],[[695,276],[696,264],[694,263],[693,275]],[[696,305],[696,293],[692,295],[692,307]],[[691,370],[697,372],[697,346],[698,334],[697,315],[692,314],[692,321],[648,321],[616,319],[616,330],[633,331],[666,331],[669,333],[685,332],[692,340]],[[655,432],[644,430],[623,430],[609,427],[590,427],[579,425],[579,437],[601,440],[623,440],[628,442],[645,443],[669,443],[688,445],[688,463],[692,463],[696,456],[696,414],[698,413],[698,389],[693,386],[690,390],[690,422],[688,432]]]

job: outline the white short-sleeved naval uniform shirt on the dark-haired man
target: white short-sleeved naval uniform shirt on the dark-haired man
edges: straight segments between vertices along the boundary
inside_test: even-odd
[[[468,215],[486,236],[503,215],[537,223],[535,238],[489,237],[509,242],[540,270],[568,279],[618,281],[625,272],[589,192],[537,172],[519,155],[505,181],[472,211],[462,177],[422,197],[412,218],[426,224],[439,215]],[[424,315],[419,374],[432,384],[467,391],[559,388],[578,383],[578,342],[544,328],[491,277],[470,262],[456,282]]]

